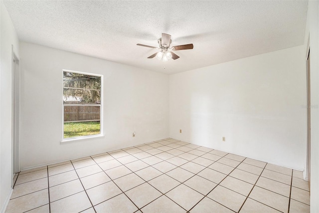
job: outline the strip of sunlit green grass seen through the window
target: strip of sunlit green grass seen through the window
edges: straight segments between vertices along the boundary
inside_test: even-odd
[[[100,134],[100,122],[64,123],[64,138]]]

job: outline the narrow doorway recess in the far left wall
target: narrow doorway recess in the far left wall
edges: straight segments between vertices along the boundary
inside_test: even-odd
[[[20,172],[20,60],[12,46],[12,180]],[[13,185],[13,183],[12,183]]]

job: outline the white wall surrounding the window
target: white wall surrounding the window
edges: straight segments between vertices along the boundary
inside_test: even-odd
[[[168,75],[26,42],[20,57],[22,170],[168,137]],[[60,143],[62,69],[104,75],[104,138]]]

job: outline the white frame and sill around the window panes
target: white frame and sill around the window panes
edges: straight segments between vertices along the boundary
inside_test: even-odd
[[[63,103],[63,72],[74,72],[79,74],[85,74],[85,75],[92,75],[92,76],[98,76],[101,77],[101,103],[100,104],[86,104],[86,106],[100,106],[100,134],[97,135],[87,135],[87,136],[79,136],[79,137],[73,137],[73,138],[64,138],[64,103]],[[103,138],[103,75],[101,74],[95,74],[95,73],[89,73],[89,72],[79,72],[74,70],[68,70],[68,69],[62,69],[62,140],[61,143],[65,142],[74,142],[79,140],[86,140],[86,139],[94,139],[94,138]],[[81,105],[82,104],[70,104],[71,105]]]

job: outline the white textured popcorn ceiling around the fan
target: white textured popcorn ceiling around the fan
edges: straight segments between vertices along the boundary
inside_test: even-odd
[[[177,73],[304,43],[308,1],[5,0],[21,41]],[[177,60],[147,57],[161,33]],[[164,68],[165,67],[165,68]]]

